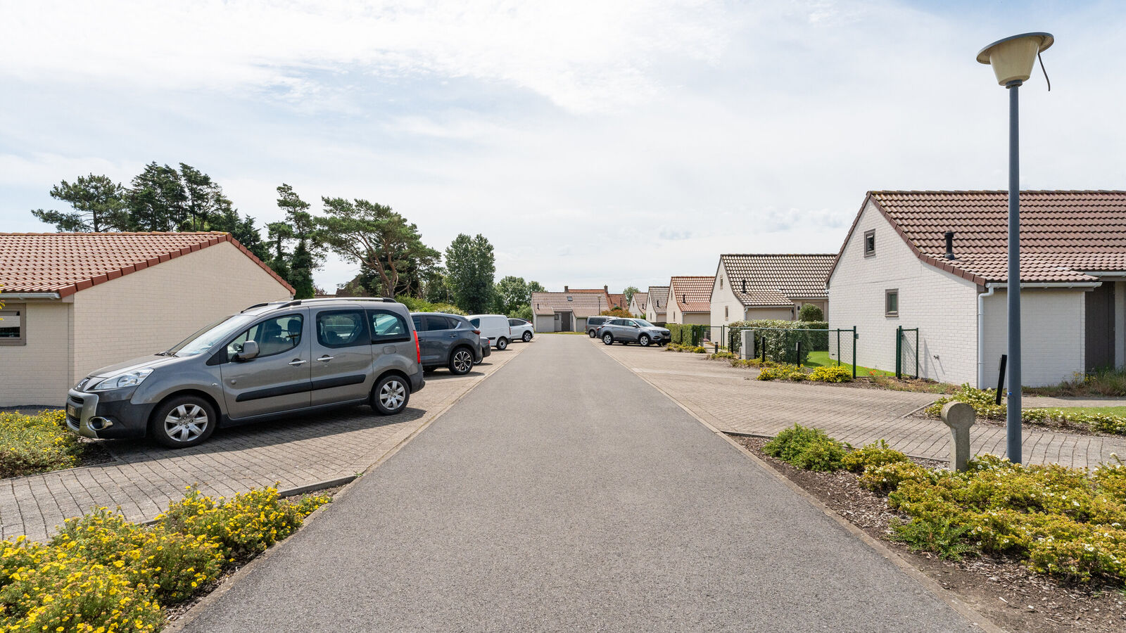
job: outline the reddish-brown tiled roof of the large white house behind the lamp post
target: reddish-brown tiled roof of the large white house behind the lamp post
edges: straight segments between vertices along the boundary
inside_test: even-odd
[[[976,283],[1008,280],[1008,191],[870,191],[923,261]],[[944,233],[954,231],[945,257]],[[1082,282],[1126,270],[1126,191],[1020,193],[1022,282]]]

